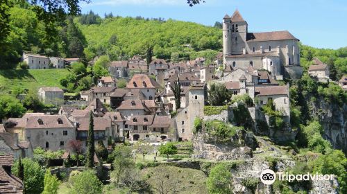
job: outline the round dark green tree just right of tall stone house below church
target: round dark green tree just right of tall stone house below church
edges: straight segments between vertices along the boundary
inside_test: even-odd
[[[208,100],[211,105],[223,105],[231,97],[230,91],[221,83],[212,83],[208,91]]]

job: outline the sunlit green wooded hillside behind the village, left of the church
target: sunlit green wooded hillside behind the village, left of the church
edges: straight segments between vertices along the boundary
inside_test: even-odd
[[[87,39],[85,54],[88,60],[94,55],[110,55],[111,60],[146,53],[153,47],[157,58],[170,59],[172,53],[179,58],[194,58],[197,51],[222,48],[221,30],[187,21],[158,21],[132,17],[110,17],[100,24],[82,25],[75,19]],[[214,57],[214,56],[213,56]]]

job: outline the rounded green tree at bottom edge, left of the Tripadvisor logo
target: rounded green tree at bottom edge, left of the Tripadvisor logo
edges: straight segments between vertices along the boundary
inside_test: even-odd
[[[206,182],[209,193],[232,193],[231,173],[223,164],[214,166]]]

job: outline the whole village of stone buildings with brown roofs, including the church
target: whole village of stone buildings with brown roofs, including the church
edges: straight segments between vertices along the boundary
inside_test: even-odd
[[[0,143],[8,146],[0,147],[12,150],[15,157],[30,157],[37,147],[69,150],[71,140],[81,140],[85,146],[90,112],[95,139],[105,145],[109,139],[187,141],[192,138],[194,119],[204,117],[212,82],[225,85],[233,96],[248,94],[258,107],[273,100],[289,121],[289,85],[280,85],[279,81],[301,76],[298,42],[288,31],[249,33],[247,22],[236,10],[231,17],[223,18],[223,52],[213,64],[206,64],[204,58],[184,62],[154,59],[147,63],[137,55],[111,62],[110,76],[99,78],[97,85],[81,92],[86,105],[83,108],[66,102],[62,89],[42,87],[38,95],[44,103],[60,106],[58,114],[26,113],[22,118],[8,118],[0,125]],[[30,69],[48,69],[50,63],[64,68],[64,61],[78,59],[24,53],[23,60]],[[318,59],[308,71],[319,81],[329,80],[326,64]],[[119,79],[127,81],[126,87],[117,87]],[[346,76],[343,79],[340,84],[346,88]],[[178,109],[172,89],[176,82],[180,85]]]

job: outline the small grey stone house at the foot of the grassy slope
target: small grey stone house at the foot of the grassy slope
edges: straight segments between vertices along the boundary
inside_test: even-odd
[[[45,104],[58,106],[64,103],[64,91],[59,87],[40,87],[38,95]]]

